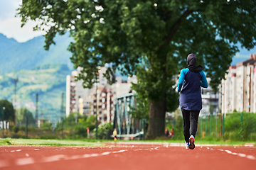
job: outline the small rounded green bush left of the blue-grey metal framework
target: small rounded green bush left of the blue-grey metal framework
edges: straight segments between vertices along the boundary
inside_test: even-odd
[[[102,123],[97,128],[97,137],[102,140],[108,140],[112,135],[112,131],[113,131],[112,123]],[[93,132],[95,133],[96,129],[94,129]]]

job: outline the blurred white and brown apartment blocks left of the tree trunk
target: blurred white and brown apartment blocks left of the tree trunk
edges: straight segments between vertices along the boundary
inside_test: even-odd
[[[122,77],[115,77],[116,81],[110,85],[103,77],[107,68],[102,67],[99,70],[98,83],[92,89],[83,89],[82,81],[75,81],[79,69],[67,76],[66,116],[74,112],[86,115],[97,113],[97,119],[101,123],[112,122],[116,98],[132,91],[131,82],[136,83],[136,77],[128,77],[126,81]]]

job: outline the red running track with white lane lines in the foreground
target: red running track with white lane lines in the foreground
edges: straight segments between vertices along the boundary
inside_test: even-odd
[[[255,147],[0,147],[0,169],[256,169]]]

